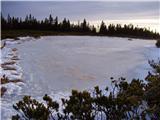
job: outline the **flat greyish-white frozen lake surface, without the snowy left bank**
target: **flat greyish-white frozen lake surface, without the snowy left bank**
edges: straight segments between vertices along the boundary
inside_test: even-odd
[[[17,45],[31,94],[110,85],[109,78],[143,78],[158,56],[155,41],[54,36]]]

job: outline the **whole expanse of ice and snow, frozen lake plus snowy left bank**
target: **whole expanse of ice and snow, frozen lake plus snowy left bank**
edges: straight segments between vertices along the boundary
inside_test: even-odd
[[[17,56],[13,71],[1,71],[19,83],[8,83],[1,99],[2,119],[14,114],[12,105],[24,95],[40,99],[45,93],[56,100],[71,89],[110,86],[110,77],[143,79],[149,70],[148,60],[160,57],[155,41],[117,37],[48,36],[8,40],[2,49],[1,63]],[[16,49],[15,49],[16,48]],[[16,75],[16,76],[15,76]]]

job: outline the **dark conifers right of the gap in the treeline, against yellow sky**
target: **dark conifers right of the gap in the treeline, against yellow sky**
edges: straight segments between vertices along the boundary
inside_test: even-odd
[[[120,36],[120,37],[138,37],[138,38],[153,38],[159,39],[159,33],[148,30],[147,28],[134,27],[132,24],[121,26],[120,24],[109,24],[108,27],[102,21],[100,30],[100,35],[108,36]]]

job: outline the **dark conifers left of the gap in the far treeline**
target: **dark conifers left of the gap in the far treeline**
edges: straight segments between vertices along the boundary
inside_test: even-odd
[[[90,26],[84,19],[82,23],[71,24],[66,18],[62,22],[58,21],[58,17],[53,18],[49,15],[44,20],[37,20],[34,16],[27,15],[24,20],[22,18],[10,17],[7,19],[1,15],[2,30],[28,29],[28,30],[49,30],[56,32],[80,32],[80,33],[96,33],[96,28]]]

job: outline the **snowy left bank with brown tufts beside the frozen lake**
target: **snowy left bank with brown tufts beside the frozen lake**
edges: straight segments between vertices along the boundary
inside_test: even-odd
[[[1,97],[8,89],[11,89],[8,88],[7,85],[19,82],[23,83],[18,50],[15,47],[10,47],[10,44],[16,44],[16,42],[12,40],[1,41]]]

